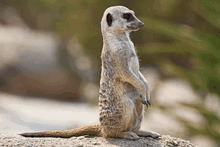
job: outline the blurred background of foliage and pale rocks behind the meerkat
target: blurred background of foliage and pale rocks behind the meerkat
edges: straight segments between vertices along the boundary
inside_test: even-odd
[[[219,0],[1,0],[0,132],[98,123],[104,10],[124,5],[152,106],[142,129],[220,144]]]

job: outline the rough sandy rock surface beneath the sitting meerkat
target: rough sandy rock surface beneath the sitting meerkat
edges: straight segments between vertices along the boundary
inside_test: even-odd
[[[0,133],[1,147],[194,147],[189,141],[163,135],[159,139],[142,137],[132,141],[116,138],[80,136],[72,138],[25,138]]]

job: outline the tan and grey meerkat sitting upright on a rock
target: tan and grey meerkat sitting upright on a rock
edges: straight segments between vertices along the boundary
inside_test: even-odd
[[[24,137],[61,137],[95,135],[125,139],[140,136],[158,138],[150,131],[140,131],[144,105],[149,106],[148,82],[140,72],[139,60],[129,33],[142,28],[141,22],[124,6],[105,10],[101,20],[103,48],[99,89],[100,125],[71,130],[20,134]]]

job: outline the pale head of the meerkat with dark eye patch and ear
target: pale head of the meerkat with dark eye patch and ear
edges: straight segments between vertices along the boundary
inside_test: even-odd
[[[101,21],[102,32],[126,33],[142,28],[141,22],[134,14],[124,6],[113,6],[105,10]]]

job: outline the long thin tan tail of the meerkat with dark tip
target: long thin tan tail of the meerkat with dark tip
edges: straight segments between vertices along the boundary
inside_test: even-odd
[[[70,138],[73,136],[82,136],[82,135],[100,136],[101,126],[93,125],[93,126],[85,126],[71,130],[42,131],[42,132],[33,132],[33,133],[22,133],[19,135],[23,137],[60,137],[60,138]]]

